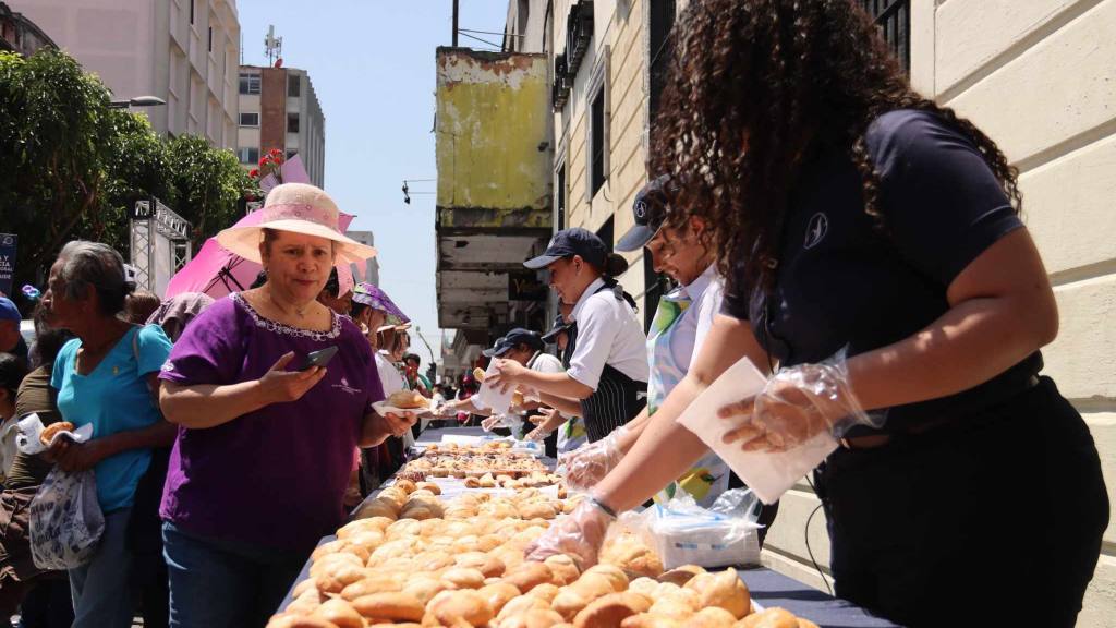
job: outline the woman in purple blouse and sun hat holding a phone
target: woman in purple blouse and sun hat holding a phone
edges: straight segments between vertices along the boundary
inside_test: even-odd
[[[345,520],[355,447],[407,431],[381,417],[372,349],[316,298],[335,264],[375,255],[341,235],[324,191],[271,190],[261,222],[218,241],[263,265],[259,288],[198,316],[163,368],[179,425],[163,497],[171,626],[263,626],[317,541]],[[336,348],[328,364],[307,355]]]

